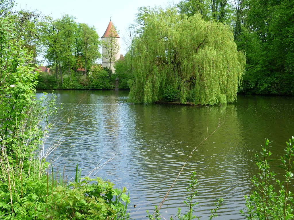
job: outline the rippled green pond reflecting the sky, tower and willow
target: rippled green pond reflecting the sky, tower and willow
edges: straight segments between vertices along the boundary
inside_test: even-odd
[[[195,148],[162,216],[185,210],[185,188],[196,171],[196,215],[208,219],[214,202],[223,198],[217,219],[244,219],[239,210],[257,172],[254,154],[269,138],[273,158],[279,158],[294,135],[293,97],[238,96],[233,104],[199,107],[131,104],[126,91],[58,91],[56,96],[62,109],[50,118],[56,123],[46,140],[47,147],[57,146],[50,155],[55,168],[66,165],[73,177],[78,163],[82,176],[126,186],[136,219],[146,219],[146,210],[161,202]]]

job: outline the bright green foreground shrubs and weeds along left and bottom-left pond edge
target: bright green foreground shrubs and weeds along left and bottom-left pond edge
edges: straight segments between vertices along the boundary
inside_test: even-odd
[[[80,175],[67,183],[52,164],[49,175],[43,141],[56,113],[55,97],[36,99],[38,74],[14,38],[13,22],[0,16],[0,218],[127,219],[125,187]]]

